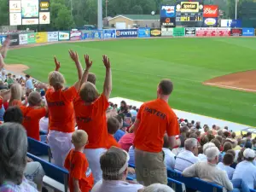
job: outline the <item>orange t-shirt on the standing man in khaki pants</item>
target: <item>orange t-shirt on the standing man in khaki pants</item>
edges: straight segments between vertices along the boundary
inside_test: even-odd
[[[137,113],[137,119],[140,123],[135,132],[134,145],[140,150],[159,153],[166,132],[169,137],[179,135],[177,116],[161,99],[145,102]]]

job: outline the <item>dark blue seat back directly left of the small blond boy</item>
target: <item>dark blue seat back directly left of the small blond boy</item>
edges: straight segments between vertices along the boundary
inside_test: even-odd
[[[38,161],[44,168],[45,175],[54,179],[55,181],[64,184],[65,191],[67,191],[68,186],[68,171],[59,166],[55,166],[39,157],[27,153],[27,156],[34,161]]]

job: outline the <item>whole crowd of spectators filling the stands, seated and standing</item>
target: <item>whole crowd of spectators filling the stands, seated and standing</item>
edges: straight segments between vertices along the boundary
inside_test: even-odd
[[[256,138],[177,118],[168,105],[170,79],[161,80],[157,99],[140,108],[125,101],[118,105],[108,102],[112,72],[107,55],[102,56],[106,74],[99,93],[89,55],[84,55],[83,70],[79,55],[69,50],[78,79],[67,87],[56,57],[49,84],[29,75],[5,76],[8,47],[9,38],[0,48],[0,191],[42,190],[44,170],[26,157],[26,137],[49,144],[53,163],[69,171],[71,192],[173,191],[166,186],[167,169],[228,191],[256,187]],[[127,182],[128,174],[137,182]]]

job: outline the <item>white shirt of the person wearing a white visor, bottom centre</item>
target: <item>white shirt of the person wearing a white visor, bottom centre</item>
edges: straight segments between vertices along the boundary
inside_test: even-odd
[[[91,192],[137,192],[139,189],[143,189],[141,184],[131,184],[125,181],[119,180],[100,180],[94,187],[91,189]]]

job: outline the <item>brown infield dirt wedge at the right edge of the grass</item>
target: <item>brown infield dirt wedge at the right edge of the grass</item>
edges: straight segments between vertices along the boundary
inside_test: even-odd
[[[207,80],[203,84],[231,90],[256,92],[256,70],[231,73]]]

